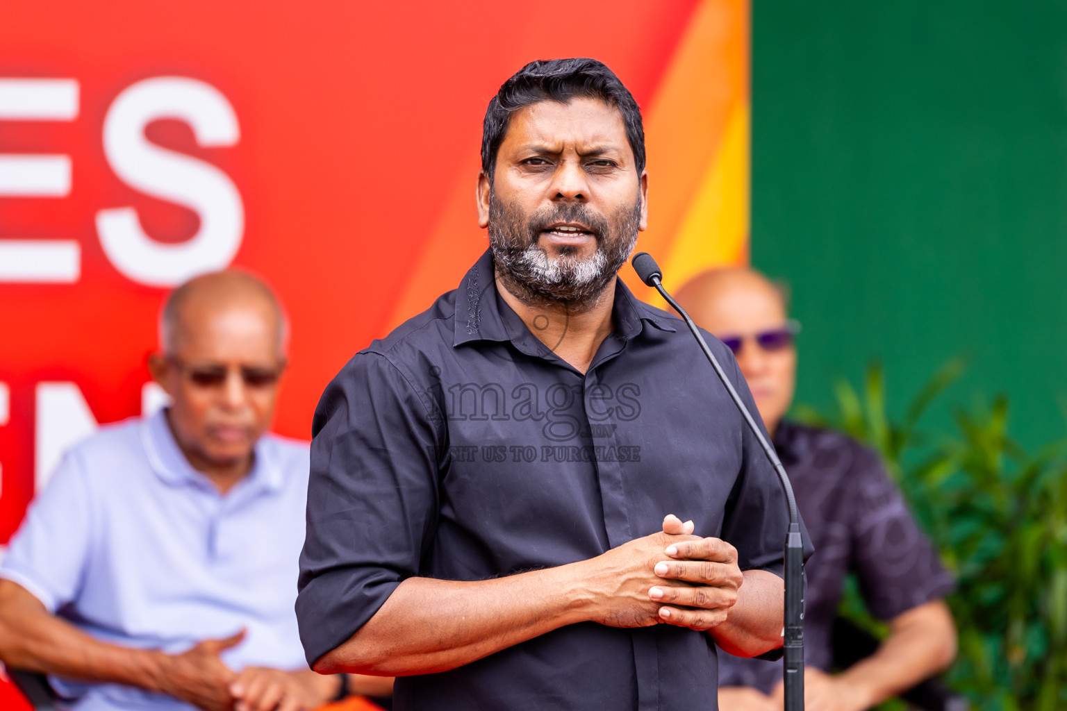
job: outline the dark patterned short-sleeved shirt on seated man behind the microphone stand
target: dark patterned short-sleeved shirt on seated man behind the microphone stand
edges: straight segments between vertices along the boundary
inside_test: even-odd
[[[846,573],[856,573],[867,610],[880,619],[942,598],[954,583],[877,454],[845,435],[792,422],[778,425],[775,448],[815,546],[805,566],[805,664],[828,669]],[[720,686],[769,692],[781,678],[780,662],[719,655]]]

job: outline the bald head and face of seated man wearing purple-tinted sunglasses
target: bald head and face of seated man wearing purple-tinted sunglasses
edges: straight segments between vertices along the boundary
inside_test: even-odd
[[[737,365],[773,433],[792,404],[796,381],[784,291],[759,272],[717,269],[690,279],[678,301],[700,326],[739,344]]]

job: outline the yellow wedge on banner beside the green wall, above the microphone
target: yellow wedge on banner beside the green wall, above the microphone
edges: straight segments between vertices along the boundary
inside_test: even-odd
[[[730,112],[719,155],[660,262],[671,289],[706,269],[748,261],[748,107],[739,104]]]

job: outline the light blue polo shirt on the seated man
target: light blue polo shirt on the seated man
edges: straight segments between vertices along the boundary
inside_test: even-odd
[[[67,452],[11,540],[0,577],[93,636],[182,651],[244,641],[244,666],[306,668],[293,603],[307,445],[274,435],[225,496],[178,449],[162,411],[102,427]],[[77,711],[191,709],[118,684],[53,679]]]

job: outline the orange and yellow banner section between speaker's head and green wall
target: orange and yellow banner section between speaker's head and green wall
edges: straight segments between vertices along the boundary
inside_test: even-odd
[[[646,132],[649,229],[638,241],[638,249],[652,254],[664,269],[685,259],[684,271],[692,274],[716,263],[723,253],[746,252],[747,235],[739,246],[732,236],[727,238],[729,244],[715,246],[711,242],[716,239],[714,220],[713,224],[701,221],[716,214],[711,206],[729,204],[731,214],[744,211],[747,232],[748,101],[747,0],[705,0],[653,101]],[[743,141],[744,158],[738,164],[735,156],[730,175],[715,178],[731,120],[735,123],[732,134]],[[684,246],[674,259],[683,236]],[[641,298],[658,300],[632,270],[623,270],[622,276]],[[681,284],[676,275],[668,277],[675,286]]]

